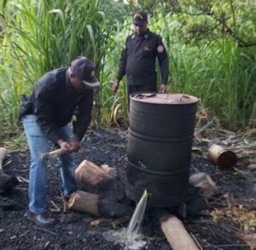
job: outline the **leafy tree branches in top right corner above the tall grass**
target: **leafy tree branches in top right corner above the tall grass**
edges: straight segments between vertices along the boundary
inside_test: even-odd
[[[177,3],[172,0],[171,3]],[[239,46],[256,45],[256,7],[253,0],[183,0],[169,5],[182,25],[179,38],[201,45],[218,38],[232,38]]]

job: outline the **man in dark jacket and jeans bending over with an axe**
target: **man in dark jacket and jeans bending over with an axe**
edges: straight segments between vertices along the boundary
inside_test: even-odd
[[[46,216],[47,165],[40,156],[49,152],[51,145],[65,148],[67,153],[79,151],[80,141],[90,124],[93,88],[98,85],[94,64],[79,56],[70,67],[44,74],[21,109],[31,154],[27,218],[35,224],[46,226],[54,222]],[[67,124],[74,113],[72,131]],[[62,154],[60,163],[63,195],[68,199],[77,190],[75,164],[70,154]]]

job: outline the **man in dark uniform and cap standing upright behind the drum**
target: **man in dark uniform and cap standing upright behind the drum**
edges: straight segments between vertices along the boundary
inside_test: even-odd
[[[113,82],[112,90],[119,89],[119,82],[126,74],[128,98],[137,91],[156,91],[156,58],[160,64],[160,92],[166,93],[168,81],[168,58],[162,38],[148,29],[148,15],[137,10],[133,17],[134,33],[126,38],[119,73]]]

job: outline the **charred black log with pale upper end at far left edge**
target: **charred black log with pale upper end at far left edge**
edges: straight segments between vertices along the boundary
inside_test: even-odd
[[[3,172],[3,159],[7,154],[6,148],[0,148],[0,193],[6,193],[19,183],[18,179]]]

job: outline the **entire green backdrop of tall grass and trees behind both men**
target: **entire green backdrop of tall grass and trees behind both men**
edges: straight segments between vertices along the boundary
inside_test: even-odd
[[[201,98],[223,125],[237,130],[255,119],[256,8],[253,0],[3,1],[0,6],[0,144],[20,137],[20,93],[77,55],[96,63],[102,82],[94,120],[127,125],[126,78],[113,96],[125,38],[136,9],[149,13],[170,59],[170,92]],[[17,142],[23,142],[22,138]]]

